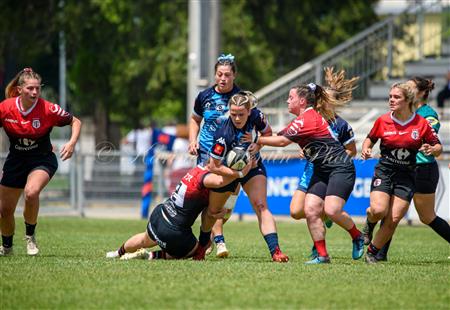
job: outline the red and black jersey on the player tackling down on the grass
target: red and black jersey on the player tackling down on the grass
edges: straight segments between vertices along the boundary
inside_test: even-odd
[[[172,224],[190,228],[200,212],[208,207],[209,189],[203,185],[203,179],[208,173],[204,167],[197,166],[189,170],[178,183],[163,207],[163,212]]]

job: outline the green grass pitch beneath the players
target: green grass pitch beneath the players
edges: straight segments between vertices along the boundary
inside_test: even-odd
[[[287,264],[272,263],[255,222],[225,226],[231,257],[206,261],[108,260],[138,220],[41,218],[41,253],[27,257],[21,219],[15,253],[0,258],[1,309],[448,309],[449,245],[431,229],[401,226],[388,263],[352,261],[348,234],[328,230],[332,264],[305,266],[303,223],[278,224]],[[198,226],[194,227],[198,232]]]

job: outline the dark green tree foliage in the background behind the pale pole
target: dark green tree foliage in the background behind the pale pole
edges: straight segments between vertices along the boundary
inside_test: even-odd
[[[221,51],[236,56],[237,83],[256,91],[370,26],[375,2],[222,0]],[[188,1],[58,3],[2,1],[0,70],[35,65],[57,89],[62,29],[71,110],[94,116],[98,139],[111,139],[112,122],[184,121]]]

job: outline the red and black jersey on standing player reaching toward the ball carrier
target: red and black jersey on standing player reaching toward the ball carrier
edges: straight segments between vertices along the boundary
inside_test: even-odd
[[[297,143],[315,170],[330,171],[352,165],[328,122],[313,108],[307,108],[278,135]]]

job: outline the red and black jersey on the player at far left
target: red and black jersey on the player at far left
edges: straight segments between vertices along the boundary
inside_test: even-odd
[[[47,154],[52,151],[50,132],[54,126],[71,124],[73,116],[59,105],[42,98],[24,110],[20,97],[0,103],[0,126],[9,138],[9,151],[14,155]]]

